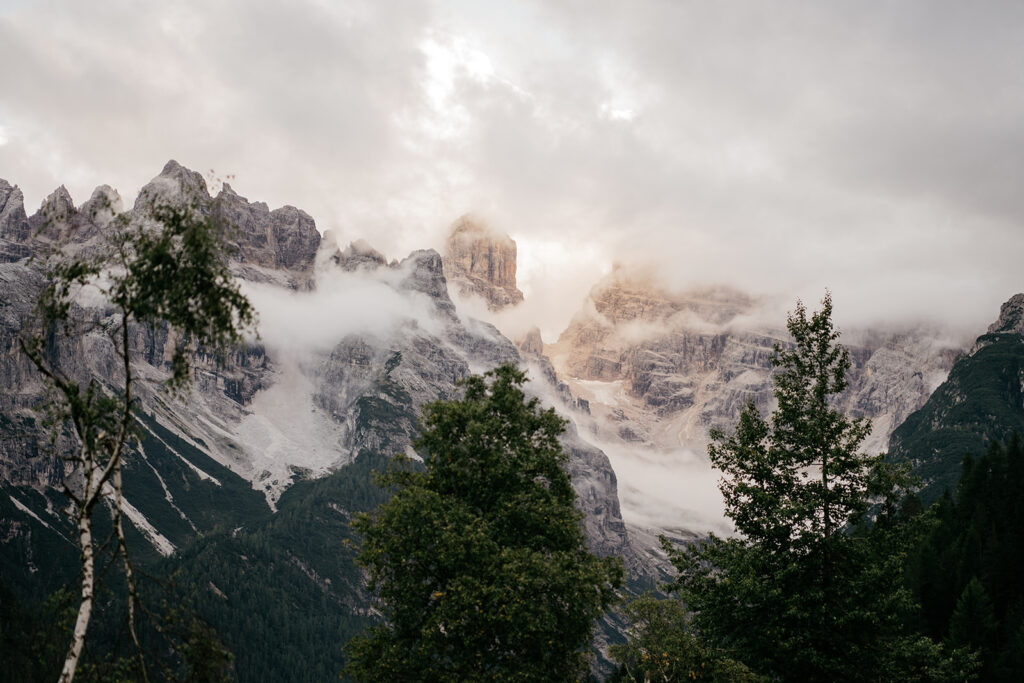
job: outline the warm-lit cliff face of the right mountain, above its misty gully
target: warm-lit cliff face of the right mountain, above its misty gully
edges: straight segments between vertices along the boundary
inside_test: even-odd
[[[767,327],[759,317],[759,303],[735,291],[672,293],[616,272],[545,351],[588,401],[602,438],[703,454],[710,429],[731,431],[748,401],[762,414],[773,408],[772,349],[788,335],[781,321]],[[892,430],[945,378],[957,349],[934,337],[915,329],[843,338],[853,368],[839,401],[871,420],[865,451],[885,451]]]

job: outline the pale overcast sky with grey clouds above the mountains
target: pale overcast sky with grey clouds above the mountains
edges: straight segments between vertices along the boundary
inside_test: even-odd
[[[841,324],[1024,290],[1020,2],[0,0],[0,65],[30,213],[172,158],[391,257],[473,210],[549,341],[615,260]]]

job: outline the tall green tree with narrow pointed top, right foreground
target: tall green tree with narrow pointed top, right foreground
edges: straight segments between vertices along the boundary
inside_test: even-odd
[[[798,304],[787,328],[795,343],[775,349],[770,420],[750,403],[735,432],[713,432],[709,447],[739,536],[683,549],[663,542],[680,572],[675,587],[706,646],[772,678],[913,680],[945,671],[938,646],[906,628],[914,605],[893,580],[902,529],[856,528],[872,496],[891,501],[905,480],[858,452],[866,422],[831,403],[850,358],[837,343],[829,297],[810,316]]]

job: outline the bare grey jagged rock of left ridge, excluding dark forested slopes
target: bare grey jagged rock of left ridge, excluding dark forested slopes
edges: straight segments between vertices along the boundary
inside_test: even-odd
[[[173,161],[140,190],[132,213],[142,217],[159,202],[182,198],[199,198],[199,210],[216,212],[238,227],[232,270],[258,309],[275,303],[301,306],[303,297],[330,302],[333,292],[324,288],[345,287],[386,295],[392,304],[401,304],[391,319],[361,326],[356,322],[348,330],[341,326],[339,338],[317,344],[268,333],[226,365],[199,357],[195,389],[183,400],[157,390],[167,375],[165,335],[159,330],[132,331],[139,391],[154,424],[252,482],[270,505],[297,476],[324,476],[364,451],[404,451],[424,402],[454,395],[456,382],[472,372],[520,359],[515,346],[495,328],[457,315],[441,258],[433,251],[414,252],[390,264],[365,243],[336,251],[333,240],[322,246],[313,220],[304,212],[293,207],[270,211],[227,185],[214,200],[200,174]],[[59,240],[87,248],[90,241],[101,239],[103,226],[120,208],[120,198],[109,187],[97,188],[78,209],[67,190],[58,188],[31,218],[23,202],[16,187],[0,183],[0,254],[7,261],[0,264],[4,425],[33,424],[43,397],[43,386],[16,344],[20,323],[31,314],[35,293],[44,284],[43,263],[26,257]],[[512,272],[514,278],[514,254]],[[272,306],[260,310],[263,323],[272,326],[276,312]],[[97,322],[112,314],[101,305],[77,306],[74,311]],[[315,321],[306,323],[316,327]],[[61,364],[77,376],[118,379],[114,347],[101,334],[70,340],[60,354]],[[156,427],[145,429],[153,432]],[[43,489],[60,482],[63,463],[44,446],[39,429],[5,432],[0,476],[6,483]],[[566,446],[593,548],[632,557],[607,459],[572,433],[566,435]],[[146,501],[129,503],[145,516]],[[147,536],[165,552],[176,546],[159,528]]]

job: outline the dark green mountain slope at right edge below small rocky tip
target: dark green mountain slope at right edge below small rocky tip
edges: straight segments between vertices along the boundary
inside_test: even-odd
[[[1024,435],[1024,294],[1002,304],[948,379],[893,432],[889,457],[911,463],[932,502],[955,489],[966,454],[980,457],[1015,431]]]

